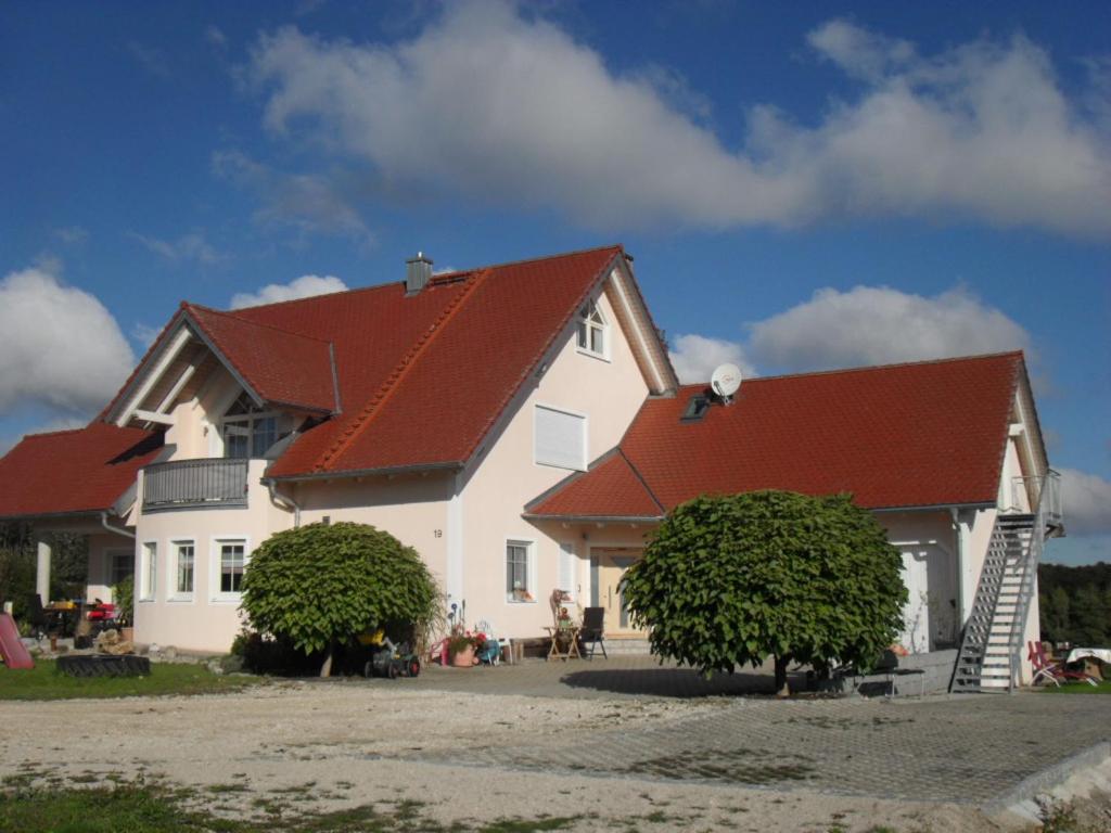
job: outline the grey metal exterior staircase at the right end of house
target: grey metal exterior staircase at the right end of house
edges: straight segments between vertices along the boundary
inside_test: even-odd
[[[1030,513],[1000,513],[991,531],[972,612],[957,655],[951,692],[1010,692],[1020,682],[1023,635],[1047,533],[1061,529],[1057,472],[1015,479]],[[1021,505],[1014,501],[1015,505]]]

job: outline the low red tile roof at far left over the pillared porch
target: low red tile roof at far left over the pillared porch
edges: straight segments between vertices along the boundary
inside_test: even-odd
[[[0,459],[0,518],[110,509],[161,446],[161,434],[103,422],[24,436]]]

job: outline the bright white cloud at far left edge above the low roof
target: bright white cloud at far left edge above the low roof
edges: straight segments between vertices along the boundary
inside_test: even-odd
[[[0,415],[29,404],[87,414],[133,361],[116,320],[88,292],[38,268],[0,280]]]

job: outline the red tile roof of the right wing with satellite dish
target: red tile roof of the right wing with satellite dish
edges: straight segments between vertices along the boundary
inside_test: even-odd
[[[702,493],[851,492],[869,509],[994,503],[1021,353],[752,379],[732,405],[680,420],[704,385],[649,400],[621,441],[664,509]],[[572,476],[530,516],[643,516],[610,461]]]

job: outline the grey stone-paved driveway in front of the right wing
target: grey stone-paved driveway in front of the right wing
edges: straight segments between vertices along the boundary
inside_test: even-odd
[[[649,658],[513,668],[429,669],[421,689],[614,700],[613,727],[587,743],[558,725],[532,726],[520,745],[412,757],[521,770],[743,784],[921,801],[982,803],[1060,761],[1111,741],[1111,699],[941,695],[778,701],[765,673],[704,681]],[[641,697],[709,696],[709,713],[629,730],[622,709]],[[707,701],[703,701],[707,702]],[[506,731],[492,725],[491,731]]]

